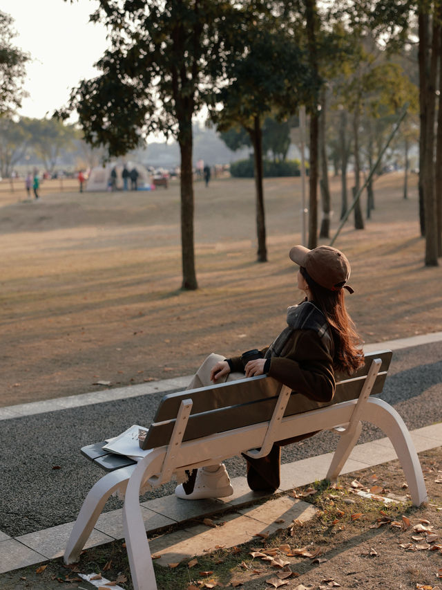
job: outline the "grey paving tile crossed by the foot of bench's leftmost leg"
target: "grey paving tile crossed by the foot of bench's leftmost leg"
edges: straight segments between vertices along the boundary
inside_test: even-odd
[[[44,531],[21,535],[21,537],[17,537],[17,541],[26,545],[30,549],[39,551],[41,555],[44,555],[48,559],[55,559],[55,557],[60,557],[64,554],[66,543],[68,542],[73,525],[73,522],[59,524],[58,526],[46,528]],[[87,549],[88,547],[102,545],[111,541],[113,541],[113,537],[104,535],[104,533],[101,533],[100,531],[93,530],[84,548]],[[4,542],[7,543],[8,541]]]

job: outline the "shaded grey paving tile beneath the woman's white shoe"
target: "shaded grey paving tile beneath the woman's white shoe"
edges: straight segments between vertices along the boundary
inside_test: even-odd
[[[173,494],[142,502],[140,506],[173,519],[175,522],[204,518],[225,509],[224,503],[216,499],[182,500]]]

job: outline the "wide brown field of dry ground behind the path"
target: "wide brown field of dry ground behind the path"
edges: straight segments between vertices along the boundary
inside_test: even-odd
[[[378,178],[365,230],[351,218],[335,243],[352,263],[347,303],[365,342],[442,330],[442,271],[423,265],[416,180],[405,201],[401,174]],[[338,181],[332,191],[331,237]],[[300,243],[300,194],[299,178],[265,181],[269,262],[257,264],[253,180],[196,183],[200,288],[184,292],[176,182],[80,194],[75,181],[46,181],[39,201],[0,183],[0,406],[190,375],[206,353],[271,342],[300,301],[287,256]]]

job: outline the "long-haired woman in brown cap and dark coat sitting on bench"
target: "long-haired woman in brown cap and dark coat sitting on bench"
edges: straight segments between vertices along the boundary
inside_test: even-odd
[[[202,363],[188,389],[266,374],[297,394],[320,402],[332,400],[334,372],[351,374],[363,365],[361,339],[345,308],[344,288],[350,265],[347,257],[330,246],[314,250],[294,246],[289,252],[300,266],[298,288],[305,299],[287,311],[287,327],[273,343],[260,351],[225,358],[211,354]],[[251,359],[251,360],[249,360]],[[274,491],[280,483],[280,447],[314,433],[278,441],[267,457],[247,459],[247,482],[252,490]],[[233,493],[224,463],[188,473],[188,480],[175,489],[183,499],[221,498]]]

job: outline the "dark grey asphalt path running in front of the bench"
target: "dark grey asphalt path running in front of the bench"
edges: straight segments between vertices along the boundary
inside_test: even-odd
[[[132,424],[148,426],[163,395],[0,421],[0,531],[16,537],[74,520],[88,490],[104,473],[79,449]],[[380,397],[398,410],[410,430],[441,421],[442,342],[394,351]],[[365,425],[360,442],[382,436]],[[329,452],[336,441],[335,434],[318,434],[285,448],[282,462]],[[232,477],[244,474],[243,459],[226,465]],[[144,498],[170,494],[173,488],[168,484]],[[111,498],[105,510],[121,506],[121,501]]]

